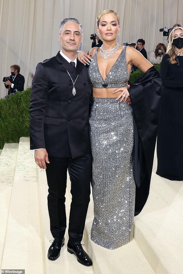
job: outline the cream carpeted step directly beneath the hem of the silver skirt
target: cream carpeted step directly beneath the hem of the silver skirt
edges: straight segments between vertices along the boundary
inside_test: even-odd
[[[88,239],[88,250],[93,260],[94,273],[97,274],[154,274],[152,267],[143,255],[136,241],[115,250],[101,247],[90,239],[93,220],[93,202],[91,200],[85,225],[84,238]],[[86,240],[85,240],[86,243]]]

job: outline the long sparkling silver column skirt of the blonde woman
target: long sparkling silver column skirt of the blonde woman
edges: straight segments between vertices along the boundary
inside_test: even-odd
[[[133,237],[132,107],[115,98],[94,98],[89,124],[94,199],[91,240],[115,249]]]

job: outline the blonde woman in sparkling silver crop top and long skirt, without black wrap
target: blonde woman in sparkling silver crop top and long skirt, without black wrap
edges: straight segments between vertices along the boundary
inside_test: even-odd
[[[103,40],[101,48],[92,48],[89,55],[78,53],[80,62],[90,63],[88,78],[94,97],[89,118],[94,200],[91,240],[115,249],[133,237],[136,186],[128,80],[132,65],[145,73],[152,64],[134,48],[119,46],[119,16],[112,10],[99,14],[97,30]]]

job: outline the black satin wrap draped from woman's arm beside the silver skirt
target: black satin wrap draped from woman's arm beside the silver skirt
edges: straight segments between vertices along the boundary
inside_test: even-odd
[[[129,88],[134,120],[135,216],[149,195],[162,93],[161,76],[153,66]]]

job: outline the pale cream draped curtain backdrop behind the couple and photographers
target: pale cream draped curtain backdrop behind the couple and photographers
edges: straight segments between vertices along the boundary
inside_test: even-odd
[[[20,65],[26,89],[29,71],[60,50],[59,24],[75,17],[83,24],[83,51],[91,48],[90,34],[96,32],[96,17],[105,9],[120,17],[119,44],[145,40],[147,56],[158,43],[167,46],[160,28],[183,24],[182,0],[0,0],[0,77],[10,75],[10,65]],[[0,98],[7,94],[1,79]]]

